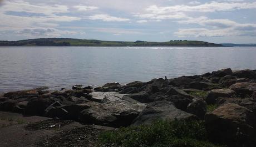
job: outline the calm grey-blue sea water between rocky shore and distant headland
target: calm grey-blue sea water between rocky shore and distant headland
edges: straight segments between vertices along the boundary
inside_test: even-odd
[[[256,47],[0,47],[0,92],[256,69]]]

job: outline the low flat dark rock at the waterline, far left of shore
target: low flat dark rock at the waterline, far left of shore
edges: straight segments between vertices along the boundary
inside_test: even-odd
[[[17,92],[9,92],[4,94],[3,97],[7,97],[10,99],[18,99],[18,98],[32,96],[32,95],[38,95],[38,91],[35,89],[31,89],[31,90],[22,90]]]

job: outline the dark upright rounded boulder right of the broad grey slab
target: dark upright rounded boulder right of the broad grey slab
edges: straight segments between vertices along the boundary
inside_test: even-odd
[[[190,103],[186,110],[188,113],[198,116],[200,119],[204,119],[204,115],[207,112],[206,102],[203,99],[195,99],[194,102]]]

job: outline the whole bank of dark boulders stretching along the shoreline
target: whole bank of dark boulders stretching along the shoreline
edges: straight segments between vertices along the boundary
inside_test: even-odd
[[[209,140],[256,144],[256,70],[222,69],[174,79],[72,90],[32,89],[0,97],[0,110],[86,124],[129,126],[154,120],[203,120]]]

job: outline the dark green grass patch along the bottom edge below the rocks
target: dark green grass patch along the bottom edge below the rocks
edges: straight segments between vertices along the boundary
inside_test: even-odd
[[[159,120],[151,125],[105,131],[99,140],[121,147],[220,147],[207,140],[204,121]]]

